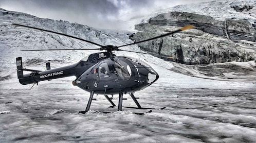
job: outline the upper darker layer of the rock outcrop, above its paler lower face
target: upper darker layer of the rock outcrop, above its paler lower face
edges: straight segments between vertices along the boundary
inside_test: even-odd
[[[253,27],[249,21],[244,19],[227,19],[226,21],[218,21],[210,16],[200,14],[188,12],[170,12],[159,14],[156,17],[150,18],[149,23],[157,26],[177,27],[193,25],[197,30],[217,36],[227,37],[233,41],[256,41],[255,27]]]

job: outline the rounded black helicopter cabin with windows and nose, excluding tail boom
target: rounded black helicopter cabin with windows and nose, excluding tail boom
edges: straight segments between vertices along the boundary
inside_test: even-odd
[[[112,57],[86,70],[75,84],[97,94],[134,92],[150,86],[159,78],[145,62],[131,57]]]

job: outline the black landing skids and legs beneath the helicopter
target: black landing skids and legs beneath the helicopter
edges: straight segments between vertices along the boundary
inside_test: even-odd
[[[133,99],[133,101],[135,102],[135,104],[137,105],[137,107],[126,107],[126,106],[124,106],[125,108],[133,108],[133,109],[157,109],[157,110],[162,110],[162,109],[166,108],[166,107],[159,108],[159,109],[158,109],[158,108],[143,108],[143,107],[140,106],[139,102],[137,101],[138,98],[135,98],[133,93],[131,93],[130,96],[132,97],[132,99]],[[94,91],[90,92],[90,98],[89,98],[89,100],[88,100],[88,103],[87,103],[87,106],[86,106],[85,111],[79,111],[79,113],[84,114],[84,113],[86,113],[86,112],[89,111],[89,109],[90,109],[90,104],[92,104],[92,101],[93,101],[93,97],[94,97]],[[112,98],[109,98],[107,95],[105,95],[105,98],[108,100],[108,102],[110,102],[110,103],[112,104],[111,107],[115,107],[115,106],[116,106],[116,105],[113,103]],[[123,107],[123,106],[122,106],[122,102],[123,102],[123,100],[125,100],[125,99],[123,99],[123,92],[119,92],[119,101],[118,101],[118,108],[117,108],[118,111],[122,111],[122,107]],[[112,111],[99,111],[99,112],[102,112],[102,113],[111,113]],[[152,112],[152,110],[150,110],[150,111],[148,111],[148,112],[142,112],[142,113],[136,113],[136,112],[135,112],[135,114],[143,115],[144,113],[150,113],[150,112]]]

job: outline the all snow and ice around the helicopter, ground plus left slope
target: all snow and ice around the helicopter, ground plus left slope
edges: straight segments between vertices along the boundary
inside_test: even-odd
[[[34,25],[48,25],[58,29],[56,23],[46,19],[30,21],[31,16],[17,19]],[[6,20],[7,19],[7,20]],[[41,31],[14,27],[13,21],[0,16],[0,142],[254,142],[256,140],[256,82],[255,80],[214,80],[183,67],[192,77],[172,71],[174,63],[151,55],[116,52],[118,56],[139,58],[152,66],[160,78],[144,90],[135,92],[142,107],[161,108],[144,115],[137,109],[111,105],[104,96],[95,96],[91,110],[86,108],[89,93],[72,86],[75,77],[40,82],[38,86],[21,85],[16,77],[15,57],[22,56],[26,68],[45,70],[50,61],[52,68],[78,62],[98,51],[22,52],[22,49],[96,48],[75,39]],[[19,21],[19,20],[18,20]],[[70,26],[69,22],[63,25]],[[46,27],[47,28],[47,27]],[[131,43],[127,31],[109,31],[90,28],[80,32],[68,29],[101,44]],[[101,36],[97,37],[97,33]],[[126,46],[123,50],[142,52],[139,47]],[[253,68],[255,63],[232,63]],[[230,63],[225,63],[230,64]],[[251,78],[251,77],[247,77]],[[131,97],[124,94],[123,106],[133,106]],[[118,103],[114,95],[113,102]],[[114,111],[104,114],[97,111]]]

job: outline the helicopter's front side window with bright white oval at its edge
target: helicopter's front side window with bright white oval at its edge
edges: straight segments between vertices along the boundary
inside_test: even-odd
[[[124,61],[117,60],[115,62],[115,69],[116,69],[117,75],[121,79],[130,79],[132,76],[131,67]]]

